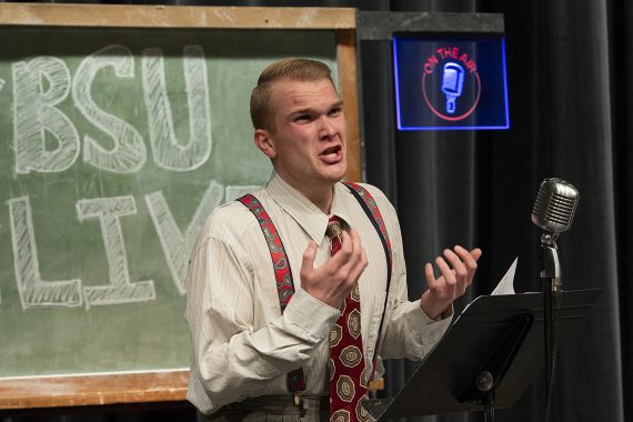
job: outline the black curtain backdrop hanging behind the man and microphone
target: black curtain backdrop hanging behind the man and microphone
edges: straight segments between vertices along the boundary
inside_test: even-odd
[[[103,1],[118,2],[124,1]],[[157,3],[159,1],[134,1]],[[131,2],[129,2],[131,3]],[[633,421],[633,3],[630,0],[163,1],[198,6],[320,6],[360,10],[503,13],[511,129],[396,132],[391,44],[362,42],[365,179],[383,189],[403,228],[410,295],[423,264],[456,243],[484,251],[458,309],[488,294],[519,257],[518,292],[540,290],[539,230],[530,221],[540,182],[559,177],[581,200],[559,241],[565,290],[602,288],[582,330],[559,354],[552,421]],[[632,261],[630,261],[632,260]],[[386,395],[418,362],[388,362]],[[433,380],[429,380],[433,382]],[[499,421],[543,421],[544,380]],[[424,398],[421,398],[423,400]],[[88,418],[88,419],[87,419]],[[191,409],[47,413],[3,422],[180,421]],[[479,421],[481,414],[421,421]]]

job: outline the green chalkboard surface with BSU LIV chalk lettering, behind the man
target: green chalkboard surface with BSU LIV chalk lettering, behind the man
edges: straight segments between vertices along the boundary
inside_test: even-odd
[[[0,378],[183,369],[183,271],[264,183],[249,97],[329,30],[0,28]]]

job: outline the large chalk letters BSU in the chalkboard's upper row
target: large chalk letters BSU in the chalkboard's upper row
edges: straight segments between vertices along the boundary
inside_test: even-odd
[[[174,133],[161,49],[147,48],[141,58],[152,157],[160,168],[172,171],[200,168],[212,148],[211,104],[202,47],[184,46],[182,62],[190,114],[188,142],[179,142]],[[117,78],[135,78],[134,57],[124,46],[107,46],[86,57],[74,78],[64,61],[54,57],[12,64],[16,173],[61,172],[77,161],[81,138],[70,118],[58,108],[69,94],[74,107],[107,138],[104,142],[84,134],[83,161],[119,174],[141,170],[148,155],[141,133],[130,122],[105,111],[91,93],[97,74],[109,68]],[[3,83],[0,80],[0,88]],[[47,134],[57,141],[54,149],[47,147]]]

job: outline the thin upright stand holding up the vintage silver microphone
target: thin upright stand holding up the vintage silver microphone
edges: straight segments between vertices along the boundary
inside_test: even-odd
[[[550,419],[552,399],[552,382],[556,360],[556,318],[559,309],[559,292],[562,291],[561,263],[556,239],[559,233],[543,232],[541,234],[542,264],[541,280],[543,282],[544,322],[545,322],[545,391],[546,415]]]

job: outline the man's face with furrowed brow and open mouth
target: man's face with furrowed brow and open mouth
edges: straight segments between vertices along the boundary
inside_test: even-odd
[[[272,87],[274,132],[263,133],[275,171],[307,197],[345,175],[346,132],[342,101],[330,80],[278,81]]]

